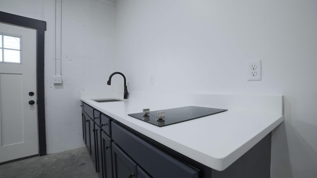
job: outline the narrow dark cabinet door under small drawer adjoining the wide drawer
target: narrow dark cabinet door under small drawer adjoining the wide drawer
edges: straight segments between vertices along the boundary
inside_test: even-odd
[[[102,178],[112,178],[111,138],[101,131]]]

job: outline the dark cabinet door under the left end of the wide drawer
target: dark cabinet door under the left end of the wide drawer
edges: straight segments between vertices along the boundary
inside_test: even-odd
[[[136,178],[137,165],[116,144],[112,144],[113,178]]]

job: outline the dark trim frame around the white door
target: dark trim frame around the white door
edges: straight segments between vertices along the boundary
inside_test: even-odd
[[[36,30],[36,78],[37,78],[37,107],[38,107],[38,138],[39,156],[46,155],[45,128],[45,96],[44,96],[44,34],[46,21],[23,17],[0,11],[0,22]]]

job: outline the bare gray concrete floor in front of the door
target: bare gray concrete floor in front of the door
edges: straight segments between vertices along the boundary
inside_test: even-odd
[[[98,178],[86,147],[0,165],[0,178]]]

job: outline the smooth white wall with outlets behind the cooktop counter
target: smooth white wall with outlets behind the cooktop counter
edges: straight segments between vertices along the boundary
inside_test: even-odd
[[[316,17],[316,0],[118,0],[115,67],[131,93],[283,94],[271,177],[316,178]],[[254,59],[262,81],[247,81]]]

